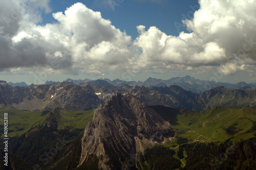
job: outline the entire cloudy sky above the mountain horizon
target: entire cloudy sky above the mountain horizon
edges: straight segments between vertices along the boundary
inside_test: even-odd
[[[256,82],[256,0],[1,0],[0,80]]]

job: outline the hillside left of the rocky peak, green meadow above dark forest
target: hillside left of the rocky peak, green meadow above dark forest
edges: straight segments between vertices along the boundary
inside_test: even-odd
[[[30,164],[34,168],[36,165],[42,169],[48,169],[55,161],[63,159],[62,156],[68,156],[66,151],[73,155],[78,154],[77,159],[74,157],[78,163],[82,137],[82,134],[80,136],[79,134],[83,132],[94,114],[94,110],[78,111],[62,108],[55,108],[45,113],[18,111],[3,107],[0,112],[1,115],[8,112],[8,152],[14,154],[15,158],[18,157],[17,160],[26,161],[25,165]],[[1,125],[1,130],[3,129]],[[0,148],[4,148],[3,138],[0,141]],[[47,158],[45,155],[49,152],[52,158]],[[68,162],[70,166],[77,165],[69,161],[72,160],[69,158],[66,163]]]

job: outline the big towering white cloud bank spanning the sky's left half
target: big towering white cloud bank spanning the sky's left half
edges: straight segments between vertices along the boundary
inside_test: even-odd
[[[6,1],[7,5],[10,2]],[[44,2],[34,4],[34,8],[49,11],[49,2]],[[1,68],[38,65],[65,69],[63,72],[67,69],[79,72],[77,68],[100,72],[123,69],[123,63],[129,61],[131,36],[116,29],[110,20],[103,19],[100,12],[76,3],[64,14],[54,13],[58,23],[46,26],[37,24],[40,19],[29,19],[37,15],[28,11],[20,13],[21,19],[15,20],[16,29],[12,34],[1,29]]]

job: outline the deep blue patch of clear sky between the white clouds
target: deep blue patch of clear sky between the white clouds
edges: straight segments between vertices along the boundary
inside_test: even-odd
[[[112,25],[121,31],[125,30],[127,35],[133,39],[138,36],[136,26],[143,25],[146,29],[156,26],[168,35],[178,36],[181,31],[188,32],[183,26],[181,20],[184,18],[191,19],[195,10],[199,9],[198,1],[195,0],[170,0],[162,2],[145,2],[135,0],[120,1],[51,1],[51,13],[44,13],[41,24],[57,22],[52,17],[52,13],[65,12],[67,7],[80,2],[94,11],[100,11],[105,19],[110,19]],[[114,3],[113,3],[114,2]],[[120,2],[120,3],[118,3]],[[193,12],[193,13],[192,13]],[[177,28],[175,26],[177,23]]]

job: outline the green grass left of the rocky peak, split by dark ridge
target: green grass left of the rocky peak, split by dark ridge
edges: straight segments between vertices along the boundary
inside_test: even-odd
[[[8,136],[20,136],[26,133],[30,128],[42,125],[47,114],[41,116],[42,112],[31,112],[10,109],[9,107],[0,108],[0,125],[4,125],[4,113],[8,113]],[[53,110],[54,112],[54,110]],[[72,129],[85,128],[94,114],[94,110],[78,111],[61,109],[60,118],[58,119],[58,128],[69,126]],[[12,132],[11,132],[12,131]],[[3,132],[1,137],[4,137]]]

